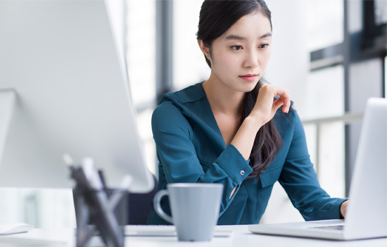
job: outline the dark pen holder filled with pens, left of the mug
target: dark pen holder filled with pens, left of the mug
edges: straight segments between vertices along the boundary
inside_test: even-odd
[[[123,247],[128,191],[72,190],[77,219],[77,247]]]

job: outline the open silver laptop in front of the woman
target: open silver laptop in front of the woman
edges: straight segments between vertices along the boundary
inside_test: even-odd
[[[387,99],[364,111],[345,220],[252,224],[255,234],[355,240],[387,236]]]

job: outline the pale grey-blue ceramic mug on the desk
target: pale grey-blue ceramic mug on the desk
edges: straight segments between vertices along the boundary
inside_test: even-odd
[[[167,184],[158,191],[153,207],[165,221],[175,224],[180,241],[210,241],[219,217],[223,184]],[[169,196],[172,217],[160,206]]]

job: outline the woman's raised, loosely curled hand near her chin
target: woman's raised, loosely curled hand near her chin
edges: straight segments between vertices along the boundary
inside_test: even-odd
[[[274,102],[274,97],[279,98]],[[291,106],[289,90],[284,87],[276,87],[270,84],[263,84],[260,87],[257,101],[250,113],[250,116],[257,118],[262,125],[272,120],[279,107],[282,107],[284,113],[288,113]]]

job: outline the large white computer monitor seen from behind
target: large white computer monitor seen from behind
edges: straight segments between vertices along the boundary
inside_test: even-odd
[[[0,34],[0,186],[69,188],[70,153],[153,189],[105,2],[0,1]]]

